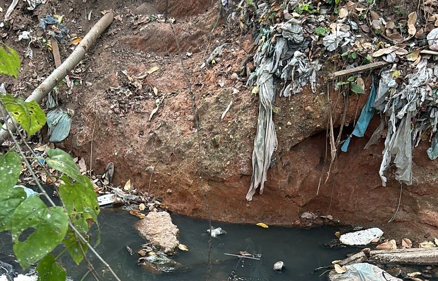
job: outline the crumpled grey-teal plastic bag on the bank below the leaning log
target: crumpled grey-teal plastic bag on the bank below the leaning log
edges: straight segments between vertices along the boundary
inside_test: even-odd
[[[70,133],[72,120],[70,115],[62,109],[54,109],[47,114],[48,135],[51,142],[61,142]]]

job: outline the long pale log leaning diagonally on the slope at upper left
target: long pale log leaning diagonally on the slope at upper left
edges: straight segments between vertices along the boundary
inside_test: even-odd
[[[85,35],[76,49],[74,49],[73,53],[32,92],[32,94],[26,99],[26,102],[36,101],[37,103],[40,103],[43,98],[80,62],[90,50],[96,39],[110,26],[113,19],[113,12],[109,12],[99,19],[87,35]],[[9,137],[6,125],[12,132],[15,132],[13,120],[6,120],[0,129],[0,144]]]

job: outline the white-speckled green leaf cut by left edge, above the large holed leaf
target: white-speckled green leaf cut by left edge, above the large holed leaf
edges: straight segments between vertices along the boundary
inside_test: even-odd
[[[0,155],[0,193],[16,185],[20,173],[21,158],[17,152]]]

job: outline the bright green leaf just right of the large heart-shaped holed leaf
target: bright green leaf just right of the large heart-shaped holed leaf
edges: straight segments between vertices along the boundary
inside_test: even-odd
[[[83,234],[89,230],[88,220],[97,222],[99,205],[93,184],[86,176],[80,176],[72,183],[67,176],[61,176],[59,196],[76,228]]]

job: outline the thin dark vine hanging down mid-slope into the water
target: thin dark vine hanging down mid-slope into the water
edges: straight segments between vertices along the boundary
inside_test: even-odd
[[[199,120],[199,116],[198,117],[196,116],[195,93],[193,92],[192,84],[190,83],[190,79],[188,77],[187,70],[184,66],[184,60],[183,60],[183,56],[181,53],[180,44],[178,42],[177,35],[176,35],[175,30],[173,28],[173,24],[170,21],[169,21],[169,24],[170,24],[170,28],[172,29],[173,36],[175,37],[175,42],[176,42],[176,45],[178,47],[178,54],[179,54],[180,59],[181,59],[181,66],[183,67],[185,80],[187,82],[187,87],[189,88],[190,95],[191,95],[192,110],[193,110],[193,115],[195,116],[195,126],[196,126],[196,131],[197,131],[197,136],[198,136],[198,156],[199,156],[199,169],[200,169],[200,177],[201,177],[201,190],[202,190],[202,196],[204,198],[205,211],[207,212],[208,229],[211,230],[210,208],[209,208],[208,203],[207,203],[207,195],[205,194],[205,190],[204,190],[204,186],[203,186],[203,167],[202,167],[202,156],[201,156],[200,120]],[[209,234],[209,239],[208,239],[208,263],[207,263],[207,274],[206,274],[206,278],[205,278],[206,281],[210,280],[210,272],[211,272],[211,259],[210,259],[211,231],[209,231],[209,233],[210,234]]]

